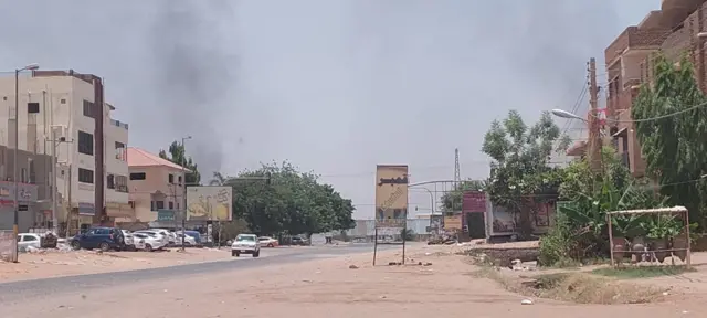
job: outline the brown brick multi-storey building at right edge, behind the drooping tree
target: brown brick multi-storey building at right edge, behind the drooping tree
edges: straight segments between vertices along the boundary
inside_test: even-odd
[[[651,55],[661,50],[668,59],[679,60],[684,53],[697,56],[697,76],[705,77],[701,40],[705,0],[663,0],[661,10],[650,12],[639,25],[626,28],[604,51],[609,84],[606,116],[614,147],[631,172],[645,173],[641,145],[633,131],[631,106],[642,83],[651,81]],[[700,75],[701,74],[701,75]],[[699,78],[698,78],[699,80]],[[704,83],[703,89],[704,89]]]

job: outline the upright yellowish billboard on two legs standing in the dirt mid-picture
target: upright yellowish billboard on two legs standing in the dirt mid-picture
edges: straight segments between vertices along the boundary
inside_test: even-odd
[[[403,227],[408,216],[408,166],[376,167],[376,226]]]

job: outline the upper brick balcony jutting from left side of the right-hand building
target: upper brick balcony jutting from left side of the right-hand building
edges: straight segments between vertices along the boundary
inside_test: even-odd
[[[629,26],[604,51],[606,65],[614,64],[627,50],[659,49],[669,34],[669,29],[640,30],[635,25]]]

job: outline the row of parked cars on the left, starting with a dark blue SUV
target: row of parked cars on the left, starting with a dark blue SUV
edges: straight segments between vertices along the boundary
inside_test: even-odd
[[[199,246],[201,239],[199,232],[186,231],[172,232],[166,229],[148,229],[139,231],[127,231],[117,227],[92,227],[71,239],[71,246],[74,250],[101,251],[158,251],[168,246],[181,245],[182,237],[184,245]],[[30,237],[31,239],[31,237]],[[24,239],[22,239],[23,242]],[[29,243],[28,243],[29,244]]]

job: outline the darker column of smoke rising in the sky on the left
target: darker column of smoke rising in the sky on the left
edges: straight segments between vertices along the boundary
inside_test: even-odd
[[[172,136],[192,136],[187,152],[210,178],[223,161],[222,138],[217,127],[228,124],[224,110],[232,107],[235,60],[225,49],[223,23],[233,19],[233,1],[161,1],[151,28],[151,64],[159,107],[169,118]]]

